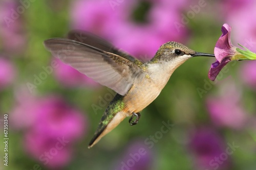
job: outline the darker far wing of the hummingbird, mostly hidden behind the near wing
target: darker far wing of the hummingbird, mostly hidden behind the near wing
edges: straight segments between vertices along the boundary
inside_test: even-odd
[[[68,33],[68,39],[76,40],[76,41],[82,42],[84,44],[88,44],[88,45],[94,46],[96,48],[99,48],[100,50],[103,50],[105,52],[116,54],[118,56],[121,56],[127,60],[130,60],[130,61],[136,63],[137,65],[142,65],[146,62],[146,61],[144,62],[144,61],[140,61],[140,60],[134,58],[133,56],[116,48],[109,41],[107,41],[103,38],[100,38],[97,35],[94,35],[92,33],[86,32],[86,31],[72,30]]]

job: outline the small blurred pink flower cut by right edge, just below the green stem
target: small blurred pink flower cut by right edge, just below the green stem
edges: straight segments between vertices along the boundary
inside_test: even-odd
[[[256,90],[256,61],[244,63],[240,71],[240,77],[250,88]]]

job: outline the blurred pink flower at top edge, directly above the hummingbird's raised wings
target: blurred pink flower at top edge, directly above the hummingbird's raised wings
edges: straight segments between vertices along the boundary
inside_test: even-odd
[[[74,29],[88,30],[108,38],[117,26],[117,15],[108,1],[75,1],[71,10]]]

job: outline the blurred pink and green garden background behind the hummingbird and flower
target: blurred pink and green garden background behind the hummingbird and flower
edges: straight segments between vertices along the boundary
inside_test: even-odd
[[[256,52],[255,16],[253,0],[1,0],[0,168],[255,169],[255,62],[233,61],[211,82],[207,73],[215,59],[186,61],[138,125],[126,118],[88,149],[114,93],[42,44],[79,29],[143,60],[167,41],[213,53],[228,23],[232,43]]]

